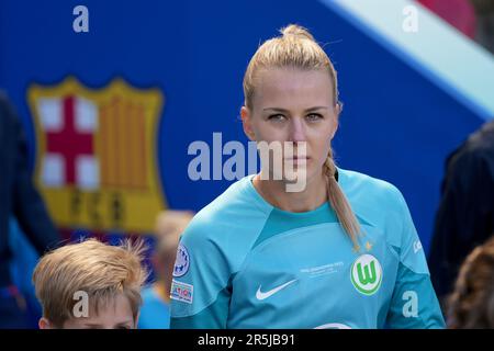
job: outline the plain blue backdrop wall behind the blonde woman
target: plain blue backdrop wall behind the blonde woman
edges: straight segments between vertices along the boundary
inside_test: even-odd
[[[78,4],[89,9],[89,33],[72,31]],[[223,143],[247,141],[238,116],[245,68],[259,43],[288,23],[327,44],[338,70],[345,103],[334,141],[339,167],[395,184],[427,251],[444,161],[484,121],[386,43],[317,1],[2,0],[0,87],[22,117],[32,166],[29,84],[56,84],[71,75],[89,88],[116,77],[160,88],[166,101],[156,147],[166,200],[172,208],[198,211],[231,182],[189,180],[188,146],[212,144],[214,132],[223,133]]]

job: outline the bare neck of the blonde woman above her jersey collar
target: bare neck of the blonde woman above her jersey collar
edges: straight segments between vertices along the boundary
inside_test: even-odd
[[[327,201],[326,180],[323,174],[307,180],[301,192],[287,192],[287,183],[279,180],[261,180],[254,177],[254,188],[272,206],[288,212],[313,211]]]

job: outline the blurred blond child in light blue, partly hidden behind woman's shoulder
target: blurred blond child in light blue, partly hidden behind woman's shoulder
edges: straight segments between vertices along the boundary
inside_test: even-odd
[[[139,329],[169,329],[170,287],[177,247],[192,212],[164,211],[156,218],[156,247],[151,257],[157,280],[143,290]]]

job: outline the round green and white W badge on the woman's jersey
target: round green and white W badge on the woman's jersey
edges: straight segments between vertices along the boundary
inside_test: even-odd
[[[351,283],[363,295],[373,295],[381,286],[382,268],[372,254],[362,254],[351,265]]]

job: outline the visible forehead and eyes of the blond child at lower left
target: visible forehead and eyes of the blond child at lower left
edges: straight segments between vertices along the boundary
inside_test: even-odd
[[[138,318],[138,317],[137,317]],[[128,298],[120,294],[113,303],[102,304],[99,313],[89,313],[88,317],[70,318],[63,325],[63,329],[135,329]],[[54,326],[46,318],[40,319],[40,329],[52,329]]]

